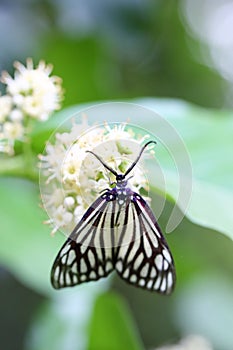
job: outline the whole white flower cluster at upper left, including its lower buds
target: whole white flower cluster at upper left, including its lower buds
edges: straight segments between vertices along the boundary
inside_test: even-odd
[[[1,82],[6,94],[0,96],[0,152],[14,153],[15,140],[23,140],[30,119],[40,121],[60,108],[61,79],[50,76],[52,66],[40,61],[34,68],[27,59],[26,66],[15,62],[14,77],[2,72]]]

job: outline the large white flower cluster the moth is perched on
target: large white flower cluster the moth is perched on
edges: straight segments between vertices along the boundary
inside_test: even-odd
[[[125,124],[90,128],[86,118],[81,124],[73,121],[70,132],[55,135],[54,143],[48,143],[45,154],[40,155],[42,201],[50,217],[45,223],[53,226],[52,234],[58,229],[70,233],[100,192],[115,181],[86,151],[95,152],[118,173],[124,173],[144,140],[136,139]],[[131,188],[145,194],[148,186],[142,169],[135,167],[132,175]]]

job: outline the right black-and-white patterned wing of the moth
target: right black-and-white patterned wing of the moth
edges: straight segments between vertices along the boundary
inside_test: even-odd
[[[133,193],[125,214],[126,229],[119,238],[115,269],[137,287],[170,294],[176,280],[174,261],[154,214],[137,193]]]

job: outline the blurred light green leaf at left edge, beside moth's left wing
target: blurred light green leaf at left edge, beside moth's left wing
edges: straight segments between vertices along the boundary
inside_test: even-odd
[[[53,293],[49,272],[65,240],[52,238],[43,225],[38,187],[27,180],[0,179],[0,261],[26,285],[43,294]]]

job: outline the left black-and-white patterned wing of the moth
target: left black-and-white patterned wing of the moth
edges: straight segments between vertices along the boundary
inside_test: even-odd
[[[110,227],[111,206],[101,196],[83,215],[60,249],[51,270],[54,288],[95,281],[113,270]]]

